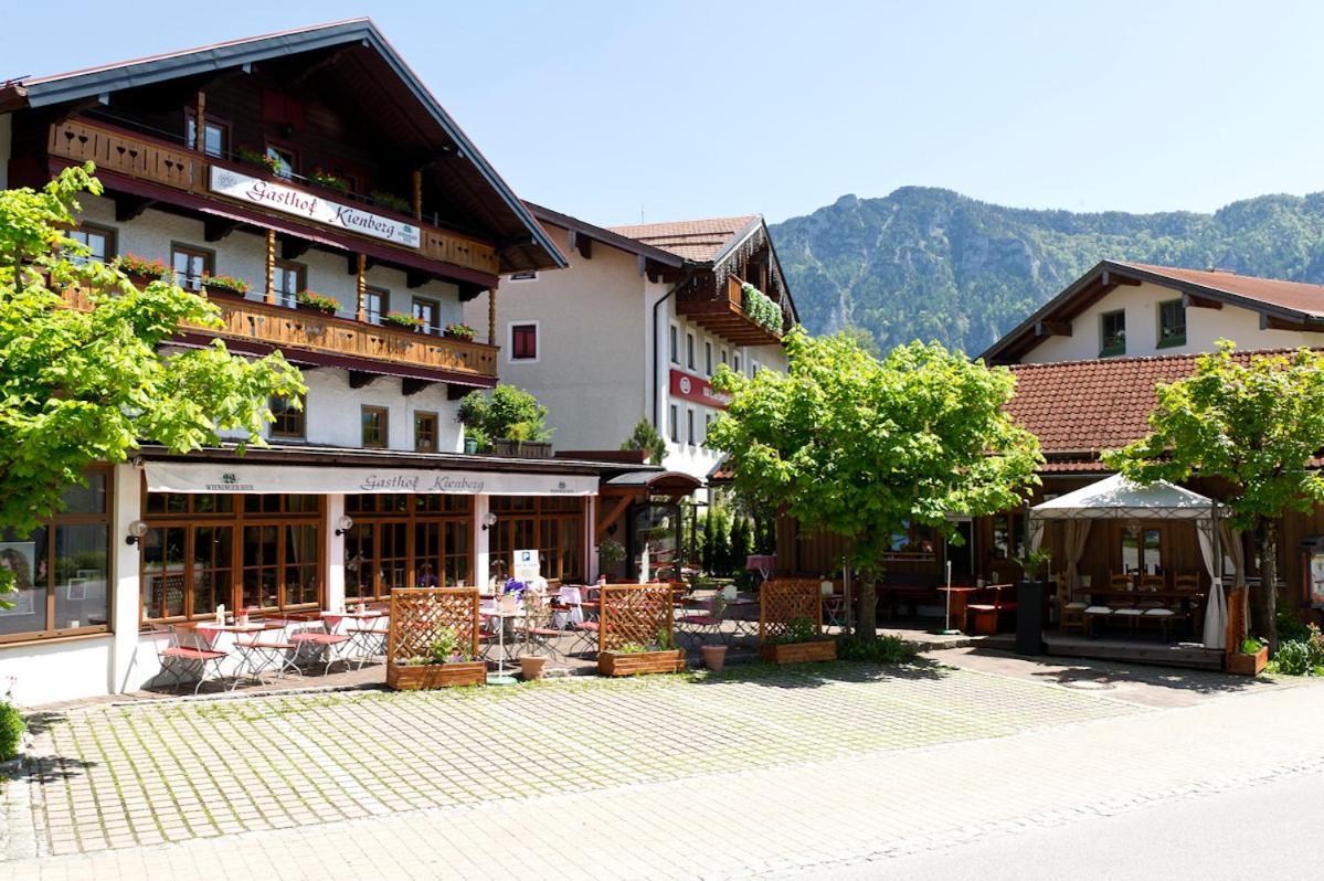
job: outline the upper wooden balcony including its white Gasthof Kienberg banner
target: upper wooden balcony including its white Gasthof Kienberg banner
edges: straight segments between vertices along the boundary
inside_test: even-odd
[[[107,189],[127,192],[140,205],[160,201],[196,209],[216,218],[218,228],[249,222],[446,278],[473,295],[495,287],[500,271],[491,245],[424,222],[417,180],[414,212],[408,216],[256,164],[78,118],[50,126],[48,152],[60,165],[91,160]]]

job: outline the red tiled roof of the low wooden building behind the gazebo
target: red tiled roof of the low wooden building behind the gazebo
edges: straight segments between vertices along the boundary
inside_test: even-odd
[[[1237,352],[1238,361],[1253,355]],[[1149,433],[1149,413],[1158,402],[1155,386],[1190,376],[1198,355],[1148,358],[1098,358],[1057,364],[1016,364],[1016,397],[1006,410],[1039,438],[1045,471],[1082,470],[1094,455]]]

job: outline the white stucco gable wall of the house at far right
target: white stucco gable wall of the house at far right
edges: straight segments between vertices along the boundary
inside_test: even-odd
[[[1125,352],[1117,353],[1116,357],[1210,352],[1221,339],[1234,341],[1239,349],[1324,347],[1324,333],[1262,328],[1258,312],[1230,303],[1217,310],[1188,307],[1185,343],[1160,347],[1158,304],[1180,299],[1180,291],[1153,282],[1115,287],[1071,319],[1071,336],[1045,337],[1026,352],[1021,362],[1051,364],[1100,357],[1103,315],[1117,311],[1125,315],[1127,336]]]

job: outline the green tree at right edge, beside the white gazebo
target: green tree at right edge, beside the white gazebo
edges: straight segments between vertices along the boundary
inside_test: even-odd
[[[1287,511],[1324,503],[1324,476],[1309,467],[1324,447],[1324,357],[1201,355],[1196,372],[1158,386],[1151,434],[1104,454],[1104,463],[1141,483],[1215,478],[1235,529],[1262,536],[1263,585],[1253,591],[1255,631],[1278,651],[1278,523]]]

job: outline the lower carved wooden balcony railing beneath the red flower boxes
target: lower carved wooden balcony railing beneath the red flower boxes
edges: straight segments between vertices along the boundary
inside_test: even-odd
[[[90,310],[81,291],[66,291],[65,299],[74,308]],[[344,366],[417,378],[473,377],[474,385],[490,386],[496,378],[496,347],[483,343],[453,340],[404,328],[381,327],[354,319],[293,310],[261,300],[212,298],[220,307],[221,328],[185,325],[181,337],[220,336],[242,343],[260,343],[281,349],[291,361],[301,361],[307,352],[320,358],[314,364]]]

